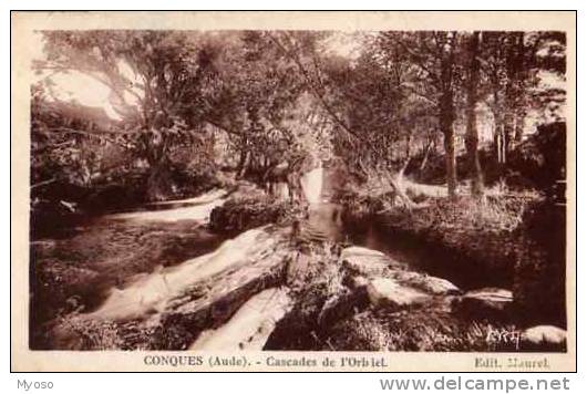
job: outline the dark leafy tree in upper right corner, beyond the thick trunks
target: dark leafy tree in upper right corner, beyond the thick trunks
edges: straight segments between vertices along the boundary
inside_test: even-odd
[[[558,110],[564,102],[565,92],[542,85],[539,74],[564,79],[565,45],[562,32],[483,32],[481,95],[494,115],[495,157],[502,166],[523,139],[527,111]]]

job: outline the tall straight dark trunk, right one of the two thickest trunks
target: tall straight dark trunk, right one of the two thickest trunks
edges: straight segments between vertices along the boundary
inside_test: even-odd
[[[480,64],[477,60],[480,32],[475,31],[470,43],[470,69],[467,80],[467,107],[466,107],[466,136],[465,145],[468,156],[468,168],[471,170],[471,194],[473,196],[483,195],[483,174],[478,159],[478,133],[477,116],[477,85]]]

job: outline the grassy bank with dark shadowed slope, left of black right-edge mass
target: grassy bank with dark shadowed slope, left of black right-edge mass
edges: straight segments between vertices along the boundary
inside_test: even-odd
[[[373,209],[383,204],[375,198],[359,208],[343,203],[343,219],[349,228],[361,229],[357,221],[369,222],[369,227],[363,225],[358,231],[363,242],[378,249],[385,248],[390,239],[401,242],[412,259],[422,262],[422,268],[434,274],[449,274],[464,288],[511,288],[522,252],[518,227],[534,198],[486,197],[483,203],[471,197],[455,201],[430,198],[412,210]]]

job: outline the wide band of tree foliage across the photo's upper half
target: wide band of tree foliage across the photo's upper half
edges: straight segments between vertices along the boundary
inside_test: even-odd
[[[330,50],[334,32],[42,34],[45,58],[33,64],[41,76],[32,95],[33,184],[56,174],[55,186],[92,188],[140,176],[146,198],[164,199],[176,170],[197,183],[228,164],[264,184],[277,166],[299,176],[340,156],[351,173],[401,189],[405,168],[425,172],[429,157],[443,154],[452,195],[465,117],[471,128],[475,113],[490,108],[496,144],[509,155],[528,112],[559,118],[564,105],[564,90],[544,82],[565,72],[566,38],[557,32],[356,33],[356,56]],[[51,75],[70,72],[107,86],[117,118],[58,100]],[[476,142],[470,151],[474,156]],[[466,176],[482,169],[478,160],[466,167],[475,167]]]

